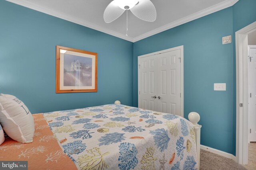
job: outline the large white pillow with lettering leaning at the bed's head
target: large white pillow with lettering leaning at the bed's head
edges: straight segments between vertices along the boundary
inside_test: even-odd
[[[0,94],[0,123],[5,133],[15,141],[31,143],[34,119],[25,104],[15,96]]]

